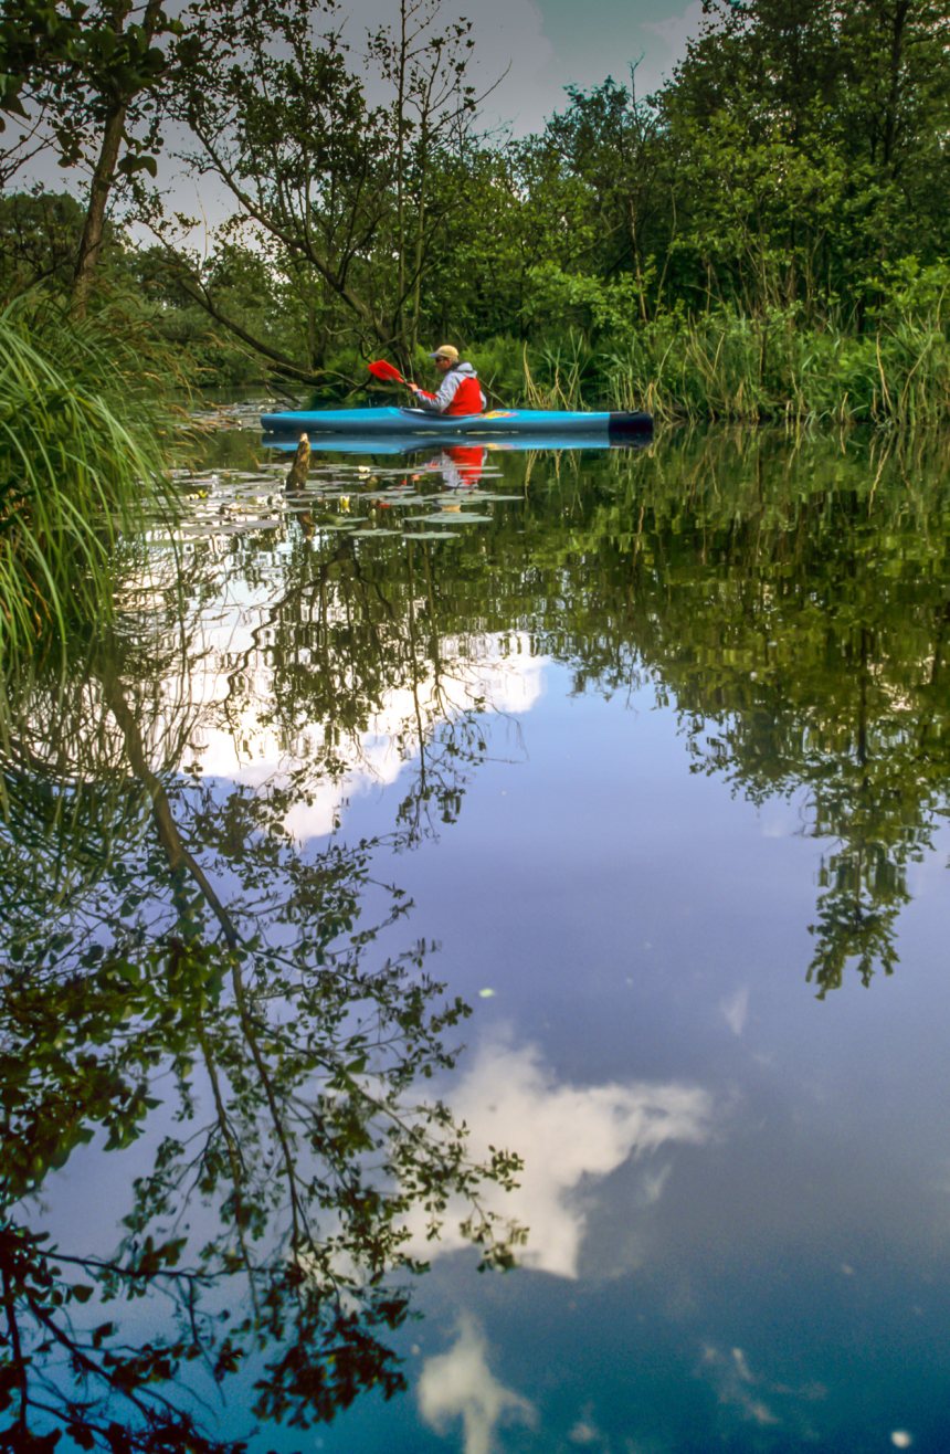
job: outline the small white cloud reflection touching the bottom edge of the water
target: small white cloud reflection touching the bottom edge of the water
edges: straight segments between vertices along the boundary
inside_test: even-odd
[[[527,1399],[498,1381],[487,1364],[484,1338],[464,1314],[452,1348],[426,1358],[418,1397],[423,1421],[436,1434],[461,1418],[464,1454],[489,1454],[498,1423],[532,1425],[535,1416]]]

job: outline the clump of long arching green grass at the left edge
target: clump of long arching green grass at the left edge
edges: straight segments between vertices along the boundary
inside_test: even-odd
[[[134,327],[0,313],[0,656],[113,609],[119,547],[170,509],[166,393]]]

